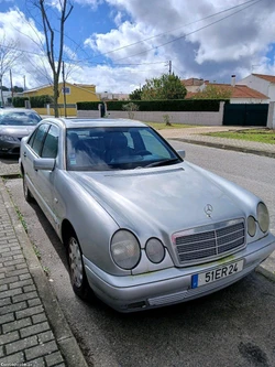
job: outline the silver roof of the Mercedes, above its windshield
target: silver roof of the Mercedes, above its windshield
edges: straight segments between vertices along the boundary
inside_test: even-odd
[[[65,118],[45,118],[43,121],[53,121],[62,123],[64,128],[118,128],[118,127],[147,127],[146,123],[130,119],[65,119]]]

